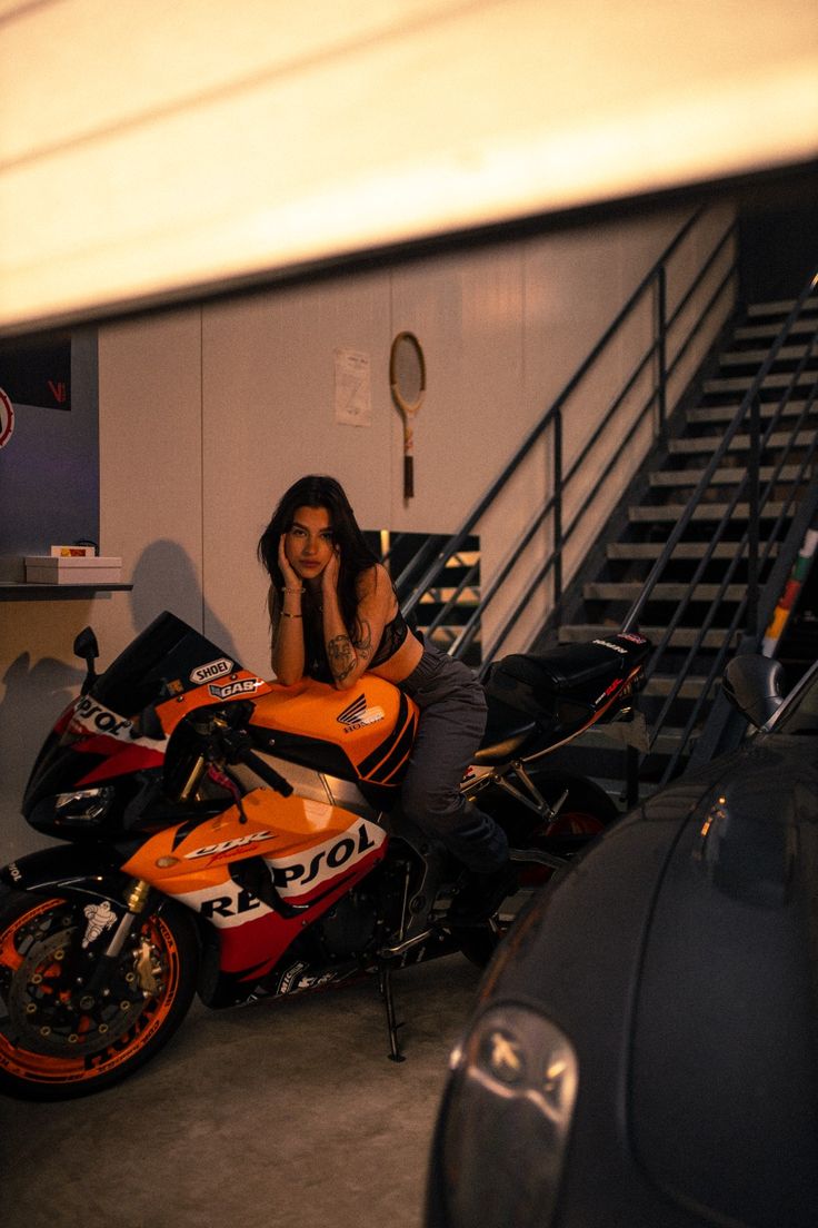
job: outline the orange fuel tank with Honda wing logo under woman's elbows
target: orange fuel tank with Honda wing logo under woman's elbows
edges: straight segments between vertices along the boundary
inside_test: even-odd
[[[254,727],[331,742],[359,780],[377,785],[399,782],[417,731],[415,702],[375,674],[364,674],[347,691],[312,679],[273,683],[254,704]]]

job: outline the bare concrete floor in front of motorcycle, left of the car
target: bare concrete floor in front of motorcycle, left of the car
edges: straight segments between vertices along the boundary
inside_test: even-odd
[[[96,1097],[0,1097],[2,1228],[419,1228],[449,1052],[481,973],[448,955],[377,981],[210,1012]]]

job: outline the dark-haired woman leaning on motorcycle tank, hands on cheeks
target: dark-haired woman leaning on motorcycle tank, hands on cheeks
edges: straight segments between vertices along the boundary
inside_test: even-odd
[[[348,690],[369,670],[411,695],[421,720],[401,790],[405,815],[478,874],[504,872],[505,833],[459,790],[486,726],[483,690],[466,666],[410,630],[342,486],[320,475],[291,486],[259,558],[270,575],[278,682],[308,674]]]

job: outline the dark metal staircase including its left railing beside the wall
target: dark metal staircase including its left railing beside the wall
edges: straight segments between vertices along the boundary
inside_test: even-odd
[[[719,747],[713,722],[724,713],[711,700],[726,659],[740,646],[762,645],[818,515],[818,274],[793,303],[762,303],[738,321],[733,314],[725,340],[719,321],[736,275],[735,223],[714,237],[706,222],[706,210],[686,222],[464,526],[429,538],[392,567],[405,610],[482,670],[509,651],[611,630],[648,635],[655,648],[636,722],[644,728],[641,792],[677,775],[703,748]],[[668,269],[700,227],[700,263],[671,296]],[[607,413],[569,460],[563,418],[583,415],[586,387],[650,302],[652,335],[633,354],[633,366],[621,363]],[[717,349],[703,350],[704,336],[717,336]],[[641,467],[628,468],[628,449],[646,432]],[[481,576],[482,527],[495,532],[492,511],[503,499],[519,500],[519,474],[535,453],[551,475],[545,501],[532,500],[527,527],[503,544],[504,554],[494,551],[502,561]],[[624,490],[623,472],[630,474]],[[613,511],[601,515],[598,495],[611,483],[618,501],[608,497]],[[573,575],[564,583],[578,540],[590,546],[579,567],[568,562]],[[521,571],[527,578],[509,600],[509,577]],[[520,642],[522,621],[543,593],[551,615]],[[580,770],[622,786],[627,759],[633,797],[633,748],[623,756],[623,740],[611,743],[596,729],[585,747],[583,740],[558,753],[567,756],[563,766],[580,756]]]

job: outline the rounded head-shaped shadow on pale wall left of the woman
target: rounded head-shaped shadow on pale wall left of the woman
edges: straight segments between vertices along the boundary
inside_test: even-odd
[[[231,632],[205,603],[190,556],[169,538],[146,546],[134,567],[134,632],[143,631],[163,610],[170,610],[223,648],[228,657],[238,659]]]

